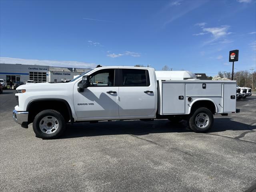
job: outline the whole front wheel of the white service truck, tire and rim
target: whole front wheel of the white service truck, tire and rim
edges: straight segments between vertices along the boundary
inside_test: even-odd
[[[33,121],[33,130],[37,137],[54,139],[59,137],[66,128],[62,114],[56,110],[43,110],[36,115]]]

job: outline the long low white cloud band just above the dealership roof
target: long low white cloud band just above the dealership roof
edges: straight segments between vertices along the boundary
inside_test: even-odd
[[[0,63],[8,64],[24,64],[24,65],[43,65],[43,66],[58,66],[58,67],[74,67],[74,68],[95,68],[95,63],[86,63],[79,61],[53,61],[53,60],[36,60],[36,59],[21,59],[0,57]]]

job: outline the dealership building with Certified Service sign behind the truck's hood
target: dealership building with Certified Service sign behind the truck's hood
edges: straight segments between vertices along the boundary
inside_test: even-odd
[[[0,79],[6,80],[7,83],[10,80],[24,83],[27,80],[34,80],[35,83],[62,82],[72,80],[74,76],[88,70],[90,69],[0,63]]]

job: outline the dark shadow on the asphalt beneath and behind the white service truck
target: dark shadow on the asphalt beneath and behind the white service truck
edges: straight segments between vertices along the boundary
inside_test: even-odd
[[[226,130],[252,130],[256,126],[233,121],[231,118],[215,118],[214,126],[208,132],[222,132]],[[173,133],[173,132],[193,132],[188,128],[187,122],[172,123],[169,120],[155,120],[153,122],[143,122],[140,120],[89,122],[67,124],[63,138],[93,137],[104,135],[147,135],[153,133]]]

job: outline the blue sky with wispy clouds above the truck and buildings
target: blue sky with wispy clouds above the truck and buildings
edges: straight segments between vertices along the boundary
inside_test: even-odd
[[[0,1],[1,62],[150,65],[213,76],[256,65],[256,1]]]

